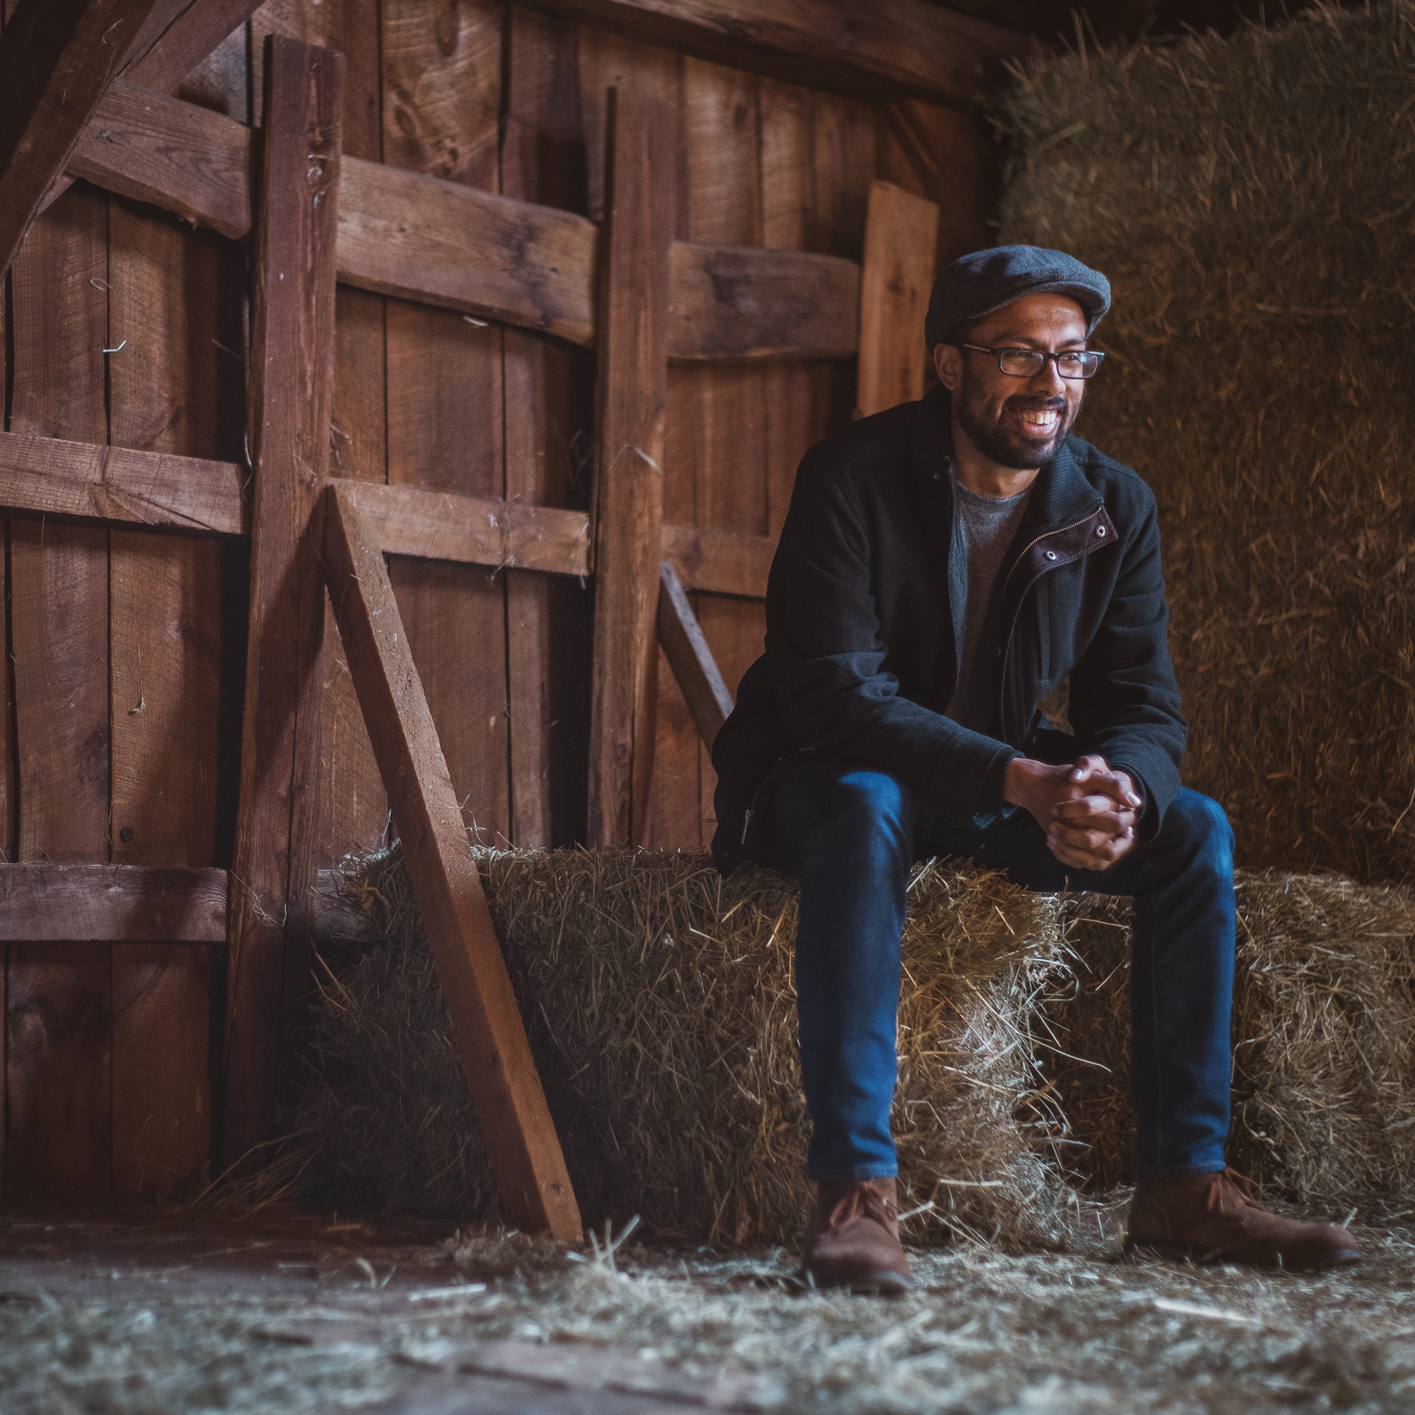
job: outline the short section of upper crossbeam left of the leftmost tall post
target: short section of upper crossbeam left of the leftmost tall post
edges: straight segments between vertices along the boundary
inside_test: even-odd
[[[250,129],[117,79],[65,168],[235,241],[250,232]]]

